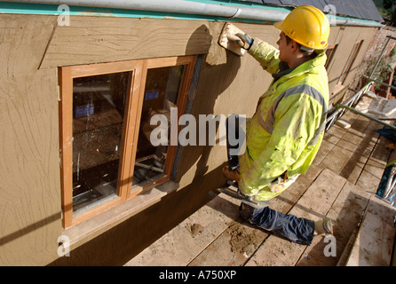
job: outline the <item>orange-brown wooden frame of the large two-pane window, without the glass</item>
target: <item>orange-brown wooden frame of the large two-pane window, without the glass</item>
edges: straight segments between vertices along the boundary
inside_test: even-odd
[[[154,185],[170,179],[177,146],[169,146],[168,156],[162,176],[132,188],[132,177],[139,138],[140,115],[144,100],[147,69],[185,65],[179,97],[178,118],[186,110],[186,99],[190,89],[196,56],[170,57],[159,59],[139,59],[121,62],[87,64],[59,67],[59,154],[60,184],[63,213],[63,226],[68,228],[98,215],[100,212],[127,201],[143,193]],[[117,194],[90,209],[73,212],[73,79],[77,77],[104,75],[119,72],[131,72],[131,83],[128,86],[128,97],[125,106],[123,125],[123,153],[120,156],[120,170]],[[175,128],[177,131],[178,126]]]

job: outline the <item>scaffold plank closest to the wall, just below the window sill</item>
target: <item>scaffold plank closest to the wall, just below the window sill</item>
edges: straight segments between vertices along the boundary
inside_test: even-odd
[[[125,266],[184,266],[190,263],[238,217],[238,207],[238,201],[220,193]]]

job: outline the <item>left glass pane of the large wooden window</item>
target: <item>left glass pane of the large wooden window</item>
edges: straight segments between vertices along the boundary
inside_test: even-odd
[[[130,73],[73,80],[73,211],[117,194]]]

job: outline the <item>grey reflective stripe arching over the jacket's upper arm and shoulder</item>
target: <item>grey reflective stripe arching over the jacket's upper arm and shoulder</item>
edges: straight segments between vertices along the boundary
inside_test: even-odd
[[[284,91],[281,93],[281,95],[276,98],[273,101],[273,106],[270,107],[268,110],[268,113],[266,114],[265,121],[263,118],[263,115],[258,115],[258,123],[260,126],[267,131],[270,134],[273,134],[273,125],[275,124],[275,111],[276,108],[278,107],[279,103],[281,102],[281,99],[287,98],[291,95],[299,94],[299,93],[305,93],[306,95],[310,96],[313,99],[316,99],[322,106],[323,113],[321,117],[321,126],[315,131],[315,134],[313,135],[313,139],[309,142],[309,146],[315,145],[316,142],[318,141],[321,131],[324,130],[325,128],[325,123],[326,123],[326,117],[327,117],[327,111],[328,111],[328,106],[326,104],[325,99],[321,95],[321,92],[316,90],[310,85],[307,84],[302,84],[298,85],[296,87],[290,88],[287,91]]]

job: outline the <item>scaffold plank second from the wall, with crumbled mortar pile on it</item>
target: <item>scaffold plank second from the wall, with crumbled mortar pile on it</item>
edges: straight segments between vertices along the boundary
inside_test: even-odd
[[[270,207],[286,213],[305,193],[318,177],[321,169],[312,166],[305,175],[297,178],[288,190],[270,201]],[[216,241],[202,251],[189,265],[191,266],[234,266],[243,265],[268,237],[268,233],[238,219],[222,233]]]

